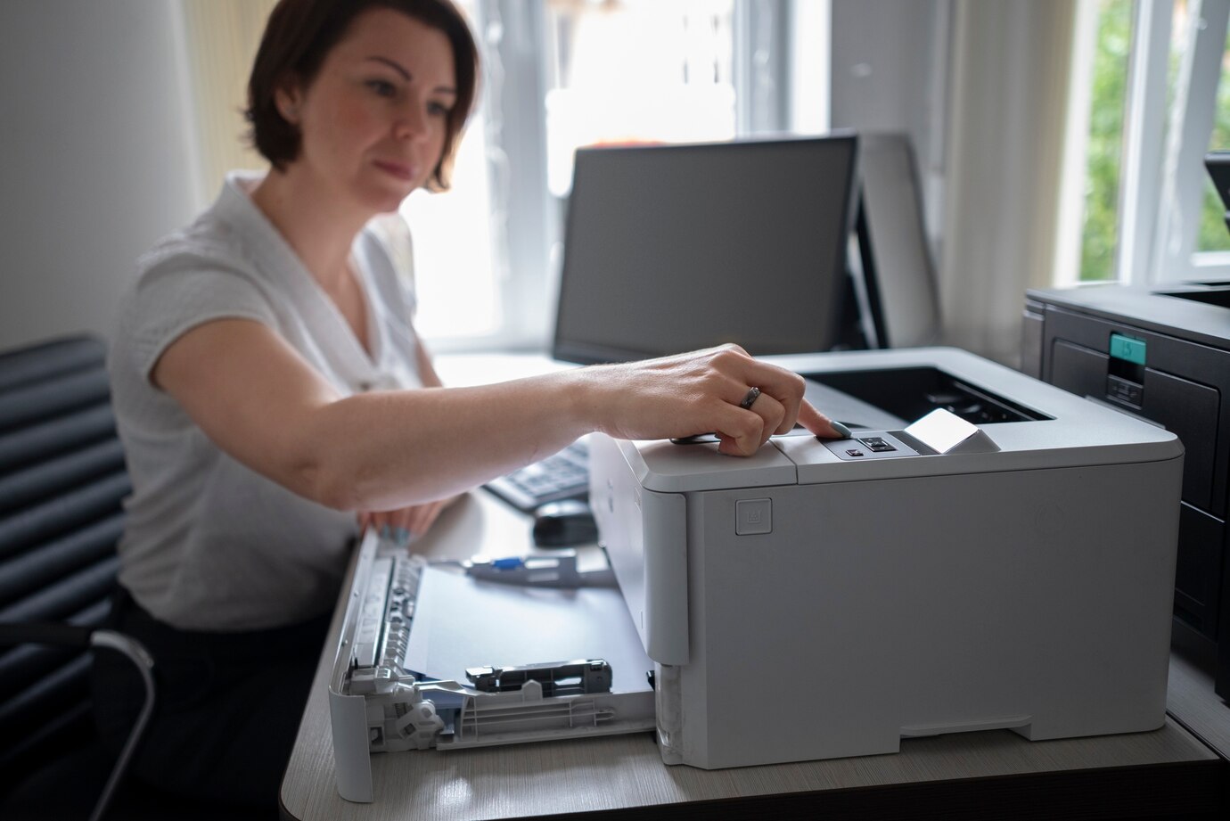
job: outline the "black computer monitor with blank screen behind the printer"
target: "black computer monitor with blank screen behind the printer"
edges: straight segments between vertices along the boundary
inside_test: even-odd
[[[578,150],[552,356],[829,350],[857,155],[854,134]]]

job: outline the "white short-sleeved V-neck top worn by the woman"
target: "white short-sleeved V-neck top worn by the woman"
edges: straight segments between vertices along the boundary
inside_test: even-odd
[[[359,233],[368,347],[252,203],[260,175],[228,175],[218,201],[141,257],[108,367],[133,494],[119,543],[121,582],[181,629],[283,627],[328,612],[355,516],[330,510],[220,451],[150,373],[167,346],[215,319],[273,329],[342,395],[422,386],[411,324],[408,230],[387,218]],[[406,420],[406,423],[412,423]]]

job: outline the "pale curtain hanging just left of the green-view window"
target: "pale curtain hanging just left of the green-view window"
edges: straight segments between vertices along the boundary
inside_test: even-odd
[[[1076,4],[957,0],[940,297],[945,341],[1016,366],[1057,239]]]

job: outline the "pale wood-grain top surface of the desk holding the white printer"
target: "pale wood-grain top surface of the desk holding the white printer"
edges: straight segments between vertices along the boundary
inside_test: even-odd
[[[494,373],[502,378],[525,375],[540,370],[542,362],[542,357],[503,361],[503,367]],[[458,367],[459,363],[464,367]],[[482,382],[493,372],[492,367],[491,358],[451,358],[445,382]],[[413,549],[433,558],[519,553],[530,543],[529,528],[529,517],[485,491],[475,491],[445,511]],[[456,752],[376,755],[371,758],[376,800],[352,804],[338,796],[335,785],[327,699],[341,612],[338,608],[335,614],[282,784],[283,814],[294,819],[503,819],[633,807],[683,809],[679,804],[691,801],[727,801],[745,807],[768,796],[823,798],[845,790],[866,796],[871,795],[868,789],[977,785],[979,779],[1017,785],[1006,788],[1011,791],[1033,783],[1017,777],[1063,779],[1065,775],[1075,784],[1068,789],[1084,790],[1071,793],[1081,800],[1087,798],[1085,793],[1096,789],[1090,779],[1100,774],[1119,773],[1114,785],[1107,789],[1122,795],[1148,774],[1168,773],[1171,775],[1162,778],[1172,778],[1181,768],[1182,784],[1173,784],[1173,795],[1160,795],[1166,789],[1159,788],[1145,790],[1133,800],[1156,798],[1159,810],[1186,800],[1186,809],[1200,811],[1209,811],[1210,801],[1216,800],[1218,806],[1224,801],[1224,790],[1209,782],[1225,782],[1225,762],[1167,719],[1160,730],[1143,734],[1030,742],[1007,730],[996,730],[908,739],[903,740],[902,752],[897,755],[723,771],[663,764],[652,734]],[[1193,687],[1200,687],[1182,666],[1177,670],[1172,666],[1171,676],[1175,693],[1189,693]],[[1213,715],[1216,718],[1215,711]],[[1124,772],[1127,778],[1122,777]],[[1202,789],[1192,789],[1191,784],[1197,782]],[[1057,783],[1068,782],[1046,782],[1048,789]],[[1005,800],[1015,799],[1007,796]]]

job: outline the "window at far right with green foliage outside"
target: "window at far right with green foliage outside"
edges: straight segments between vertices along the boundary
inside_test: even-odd
[[[1203,164],[1208,150],[1230,149],[1230,2],[1085,4],[1096,7],[1087,15],[1096,23],[1077,25],[1077,55],[1080,38],[1096,46],[1084,69],[1074,60],[1087,71],[1076,82],[1090,84],[1075,278],[1148,284],[1230,274],[1230,233]]]

